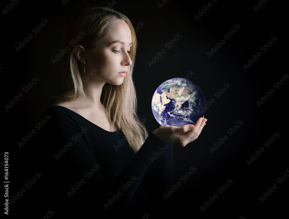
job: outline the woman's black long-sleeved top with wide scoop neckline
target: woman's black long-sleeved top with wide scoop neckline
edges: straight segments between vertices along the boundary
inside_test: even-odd
[[[139,185],[155,200],[171,188],[173,146],[151,133],[134,154],[125,137],[109,132],[62,106],[52,106],[42,119],[43,207],[65,218],[71,214],[136,212]]]

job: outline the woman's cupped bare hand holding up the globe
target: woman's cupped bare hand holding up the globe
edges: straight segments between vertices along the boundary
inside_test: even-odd
[[[155,134],[165,144],[173,144],[181,147],[197,139],[208,119],[199,118],[195,125],[183,125],[180,127],[165,125],[160,126],[153,134]]]

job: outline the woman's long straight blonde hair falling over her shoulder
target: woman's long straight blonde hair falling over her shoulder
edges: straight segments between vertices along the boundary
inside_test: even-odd
[[[136,153],[145,139],[147,130],[137,116],[137,98],[132,72],[136,56],[136,34],[129,19],[123,14],[108,7],[84,6],[72,12],[66,19],[64,28],[64,47],[69,46],[64,54],[63,83],[64,94],[69,92],[65,100],[75,100],[80,95],[85,95],[81,80],[80,66],[74,50],[77,45],[94,50],[97,42],[105,37],[116,19],[124,20],[130,28],[132,45],[130,58],[132,65],[128,66],[127,75],[121,85],[105,83],[101,93],[101,103],[106,108],[107,117],[112,127],[118,127],[123,132],[129,146]],[[71,39],[79,33],[85,33],[72,47]]]

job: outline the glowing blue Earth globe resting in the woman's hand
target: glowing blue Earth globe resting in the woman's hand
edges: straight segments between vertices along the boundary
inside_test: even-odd
[[[194,125],[205,115],[205,107],[201,88],[185,78],[173,78],[162,83],[151,101],[153,115],[162,126]]]

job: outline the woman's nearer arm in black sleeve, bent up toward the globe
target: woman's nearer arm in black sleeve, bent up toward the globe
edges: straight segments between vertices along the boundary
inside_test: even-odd
[[[93,211],[119,213],[140,185],[147,168],[153,162],[151,157],[165,144],[154,134],[149,135],[123,171],[114,180],[107,181],[84,135],[77,136],[77,133],[84,132],[83,128],[68,118],[52,116],[41,130],[42,146],[45,147],[49,165],[47,176],[50,177],[46,180],[50,181],[51,205],[64,213],[79,206],[85,206],[84,214]],[[68,143],[72,142],[72,136],[75,135],[76,142],[69,146]],[[68,149],[64,150],[65,147]],[[92,170],[94,173],[90,176]]]

